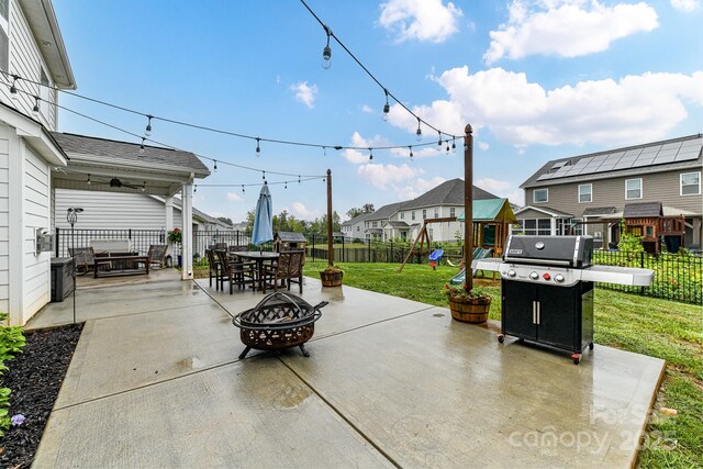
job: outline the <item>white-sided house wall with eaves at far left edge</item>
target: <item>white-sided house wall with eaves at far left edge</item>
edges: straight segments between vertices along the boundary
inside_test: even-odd
[[[49,0],[0,0],[0,311],[24,324],[51,300],[36,236],[52,225],[52,168],[67,165],[48,87],[76,88]]]

